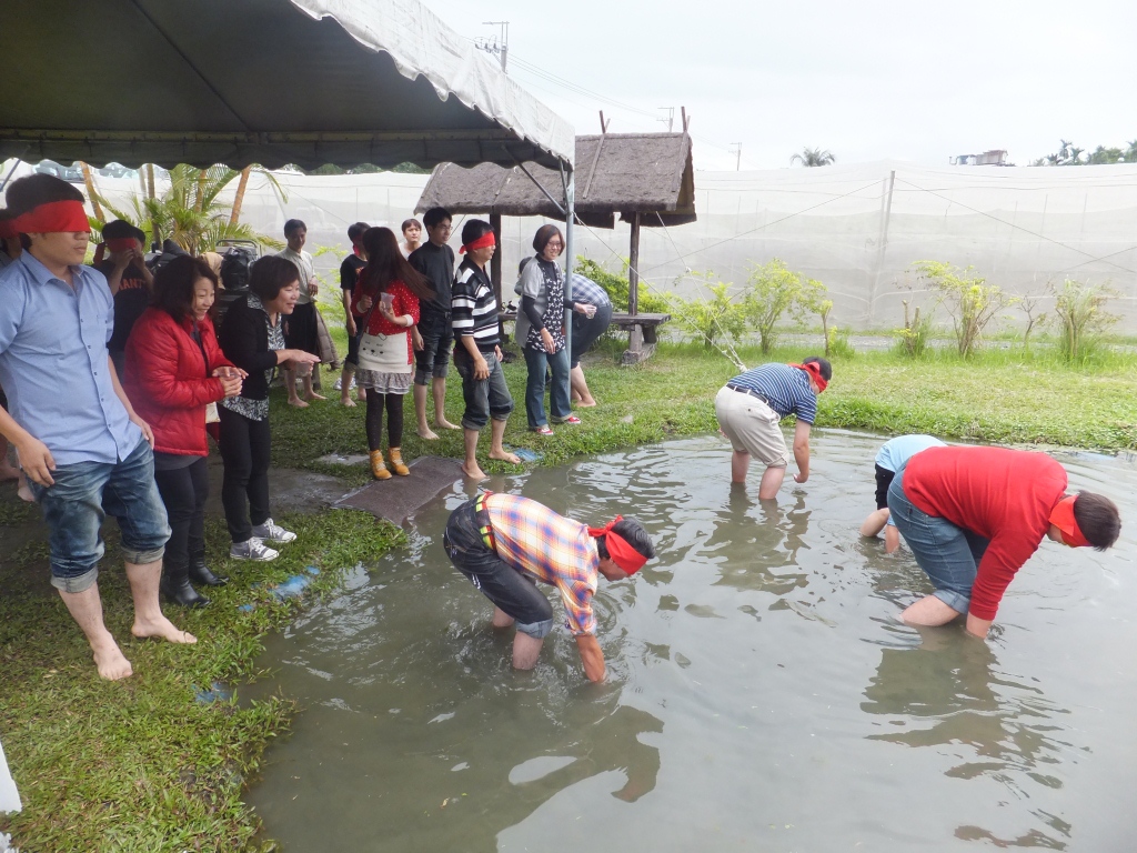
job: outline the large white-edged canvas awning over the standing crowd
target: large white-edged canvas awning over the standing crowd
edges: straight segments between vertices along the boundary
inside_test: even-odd
[[[571,163],[573,129],[417,0],[8,0],[0,159]]]

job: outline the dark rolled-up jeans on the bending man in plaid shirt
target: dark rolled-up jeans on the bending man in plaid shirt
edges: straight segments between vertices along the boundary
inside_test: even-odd
[[[506,563],[487,544],[482,530],[489,527],[489,519],[478,512],[476,502],[467,500],[450,513],[442,536],[446,554],[482,595],[516,620],[518,631],[543,639],[553,630],[553,605],[532,578]]]

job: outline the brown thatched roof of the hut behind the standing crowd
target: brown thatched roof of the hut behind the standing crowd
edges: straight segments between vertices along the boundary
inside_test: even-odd
[[[695,168],[686,133],[605,133],[576,136],[576,215],[592,227],[613,227],[615,215],[644,226],[695,222]],[[561,173],[526,164],[533,179],[561,199]],[[417,212],[445,207],[454,214],[546,216],[564,214],[517,166],[484,163],[434,168]]]

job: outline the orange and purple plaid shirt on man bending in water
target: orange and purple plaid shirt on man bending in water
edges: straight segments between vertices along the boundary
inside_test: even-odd
[[[561,590],[567,615],[565,627],[573,636],[596,633],[592,595],[600,556],[588,527],[515,495],[490,495],[485,512],[498,556]]]

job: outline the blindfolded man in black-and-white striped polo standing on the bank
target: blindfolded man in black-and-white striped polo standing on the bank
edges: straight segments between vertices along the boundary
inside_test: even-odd
[[[478,464],[478,436],[490,422],[490,458],[520,465],[521,459],[501,446],[505,423],[513,412],[513,397],[501,370],[498,339],[498,306],[485,265],[493,257],[497,239],[484,220],[470,220],[462,229],[465,260],[458,267],[450,293],[450,322],[454,326],[454,366],[462,376],[466,412],[466,458],[462,471],[473,480],[485,479]]]

